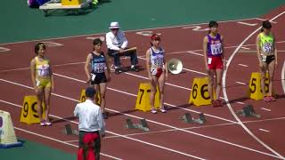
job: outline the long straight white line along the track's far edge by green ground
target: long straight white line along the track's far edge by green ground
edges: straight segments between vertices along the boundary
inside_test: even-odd
[[[256,18],[250,18],[250,19],[240,19],[240,20],[256,20]],[[234,22],[234,21],[240,21],[240,20],[221,20],[218,21],[219,23],[226,23],[226,22]],[[162,28],[183,28],[187,26],[197,26],[197,25],[207,25],[208,22],[205,23],[196,23],[196,24],[189,24],[189,25],[177,25],[177,26],[169,26],[169,27],[162,27]],[[137,31],[143,31],[143,30],[154,30],[154,29],[160,29],[160,28],[143,28],[143,29],[130,29],[126,30],[125,32],[137,32]],[[85,37],[85,36],[102,36],[106,33],[94,33],[94,34],[86,34],[86,35],[79,35],[79,36],[62,36],[62,37],[56,37],[56,38],[48,38],[48,39],[37,39],[37,40],[30,40],[30,41],[20,41],[20,42],[13,42],[13,43],[5,43],[5,44],[21,44],[21,43],[29,43],[29,42],[36,42],[36,41],[47,41],[47,40],[59,40],[59,39],[66,39],[66,38],[74,38],[74,37]],[[4,44],[0,44],[4,45]]]

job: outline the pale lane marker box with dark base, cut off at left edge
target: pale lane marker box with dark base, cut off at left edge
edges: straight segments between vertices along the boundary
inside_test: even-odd
[[[16,138],[10,113],[0,110],[0,148],[21,147],[22,145],[22,142]]]

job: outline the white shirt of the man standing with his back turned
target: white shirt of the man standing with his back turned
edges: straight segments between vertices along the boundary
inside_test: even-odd
[[[99,131],[101,135],[104,134],[105,123],[101,109],[98,105],[94,104],[92,100],[85,100],[85,102],[78,103],[74,109],[74,116],[79,118],[79,131]]]

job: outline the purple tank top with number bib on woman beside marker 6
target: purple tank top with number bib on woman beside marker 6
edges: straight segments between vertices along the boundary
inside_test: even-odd
[[[216,34],[216,37],[208,36],[207,53],[208,57],[221,57],[223,53],[222,39],[220,34]]]

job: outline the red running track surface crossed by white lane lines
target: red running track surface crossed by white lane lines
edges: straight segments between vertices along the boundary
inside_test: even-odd
[[[281,7],[274,12],[262,17],[271,20],[276,15],[283,12],[285,7]],[[285,39],[281,36],[285,15],[281,15],[273,24],[273,32],[277,36],[279,52],[279,68],[276,70],[274,88],[280,95],[280,99],[273,103],[265,103],[262,100],[248,100],[246,92],[251,72],[257,71],[257,60],[255,52],[238,52],[227,70],[226,92],[230,100],[230,105],[234,110],[241,109],[244,104],[254,105],[256,112],[262,118],[242,118],[240,120],[255,136],[262,140],[267,146],[284,156],[285,140],[282,132],[285,132],[284,116],[284,91],[281,85],[281,68],[285,60]],[[225,54],[228,59],[237,46],[244,39],[258,28],[261,20],[240,20],[247,23],[258,23],[257,26],[248,26],[237,23],[238,21],[228,21],[220,23],[220,32],[225,39]],[[207,25],[199,25],[207,28]],[[183,26],[187,27],[187,26]],[[157,28],[148,29],[162,34],[163,46],[167,51],[167,59],[177,58],[183,60],[183,74],[170,76],[166,88],[167,114],[152,115],[134,110],[138,85],[146,82],[146,70],[139,73],[126,73],[119,76],[112,75],[112,80],[108,84],[107,108],[109,108],[110,118],[106,121],[107,135],[102,140],[102,159],[109,159],[114,156],[122,159],[276,159],[280,158],[271,150],[265,148],[248,132],[238,124],[232,116],[229,108],[201,107],[196,108],[187,104],[190,95],[192,80],[196,76],[203,75],[204,63],[200,55],[192,54],[192,51],[202,54],[201,40],[207,31],[192,31],[192,28]],[[99,35],[93,35],[99,36]],[[102,35],[100,35],[102,36]],[[131,45],[139,48],[139,64],[144,68],[144,52],[149,47],[149,36],[137,35],[135,31],[126,33]],[[33,47],[35,42],[25,42],[16,44],[1,44],[1,47],[11,49],[10,52],[0,53],[0,109],[12,113],[13,124],[16,127],[17,136],[43,142],[53,148],[61,148],[70,153],[77,152],[77,137],[66,136],[61,133],[64,124],[77,127],[77,120],[72,118],[73,109],[79,99],[81,89],[85,88],[84,64],[85,56],[92,48],[92,41],[86,39],[87,36],[77,36],[53,40],[62,46],[49,47],[47,56],[52,60],[55,73],[55,94],[52,96],[51,113],[53,115],[53,127],[40,127],[37,124],[20,124],[20,106],[23,97],[33,94],[30,89],[28,64],[34,56]],[[250,36],[243,45],[255,49],[256,34]],[[67,63],[76,63],[62,65]],[[128,65],[128,60],[125,60]],[[247,65],[242,67],[239,64]],[[22,69],[19,69],[22,68]],[[15,69],[15,70],[13,70]],[[197,72],[189,71],[195,70]],[[283,73],[284,74],[284,73]],[[73,78],[73,79],[72,79]],[[242,82],[247,85],[237,84]],[[175,84],[172,85],[172,84]],[[16,94],[15,94],[16,93]],[[236,103],[234,101],[239,101]],[[262,109],[265,108],[265,109]],[[268,111],[270,109],[271,111]],[[178,118],[185,112],[191,112],[192,116],[197,114],[192,112],[203,112],[208,120],[207,124],[185,124]],[[58,117],[54,117],[58,116]],[[65,120],[59,118],[65,118]],[[127,130],[126,118],[132,117],[134,122],[138,117],[146,118],[151,127],[151,132],[140,132]],[[24,131],[22,131],[22,130]],[[264,132],[263,129],[269,132]],[[26,131],[26,132],[25,132]],[[27,132],[28,131],[28,132]],[[48,140],[46,137],[39,137],[31,132],[56,139]],[[134,133],[134,134],[133,134]],[[133,134],[133,135],[129,135]],[[60,140],[60,141],[59,141]],[[69,141],[71,142],[63,142]],[[68,144],[69,143],[69,144]],[[106,155],[105,155],[106,154]]]

